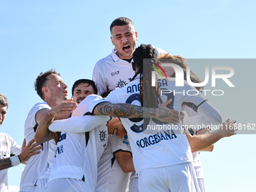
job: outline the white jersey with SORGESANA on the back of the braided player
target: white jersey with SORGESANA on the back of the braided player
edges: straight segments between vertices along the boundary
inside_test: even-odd
[[[181,104],[190,102],[194,108],[205,114],[205,118],[213,118],[212,123],[220,123],[221,116],[206,98],[199,93],[197,96],[188,96],[187,90],[194,90],[187,83],[184,87],[175,87],[175,78],[159,80],[161,89],[172,90],[172,93],[163,94],[162,100],[172,99],[171,108],[181,111]],[[174,90],[174,88],[175,90]],[[176,93],[176,94],[174,94]],[[131,103],[139,105],[139,75],[125,87],[112,91],[105,99],[112,103]],[[139,103],[139,104],[138,104]],[[200,107],[198,107],[200,105]],[[138,174],[142,169],[163,166],[172,166],[180,163],[192,162],[193,157],[190,145],[185,134],[181,134],[181,124],[173,126],[166,124],[166,130],[154,130],[157,125],[162,125],[154,119],[125,119],[120,118],[125,127],[133,151],[133,163]],[[143,123],[149,127],[143,132]],[[171,127],[171,128],[170,128]],[[174,127],[174,128],[173,128]],[[163,127],[164,128],[164,127]]]

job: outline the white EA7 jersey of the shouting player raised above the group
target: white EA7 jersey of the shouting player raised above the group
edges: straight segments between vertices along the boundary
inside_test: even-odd
[[[154,46],[153,46],[154,47]],[[166,53],[166,51],[154,47],[157,54]],[[124,87],[130,83],[131,78],[135,75],[131,62],[120,59],[114,48],[112,53],[103,59],[96,62],[93,69],[93,81],[98,88],[98,93],[101,95],[107,90],[114,90],[117,87]]]

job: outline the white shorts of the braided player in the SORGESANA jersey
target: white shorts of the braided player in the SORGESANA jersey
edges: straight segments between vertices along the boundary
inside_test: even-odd
[[[143,169],[139,172],[139,191],[157,192],[199,192],[192,163]]]

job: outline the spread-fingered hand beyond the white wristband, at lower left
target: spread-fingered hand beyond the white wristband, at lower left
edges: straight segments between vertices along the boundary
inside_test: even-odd
[[[26,145],[26,139],[24,139],[23,141],[23,146],[21,148],[21,152],[19,154],[20,157],[20,163],[26,163],[27,160],[29,160],[30,157],[32,157],[32,155],[35,154],[40,154],[40,150],[42,148],[42,146],[37,147],[38,143],[34,143],[32,145],[32,143],[35,142],[35,139],[32,139],[28,145]]]

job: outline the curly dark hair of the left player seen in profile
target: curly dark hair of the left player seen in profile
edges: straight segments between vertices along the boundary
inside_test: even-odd
[[[52,74],[59,75],[59,77],[60,77],[59,73],[57,73],[54,69],[50,69],[47,72],[44,72],[44,73],[41,72],[40,75],[38,75],[38,78],[36,78],[36,80],[35,80],[35,90],[38,93],[38,96],[40,96],[41,99],[43,99],[43,100],[44,100],[44,92],[41,90],[41,88],[45,87],[45,84],[48,80],[47,77]]]

